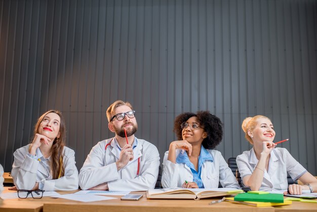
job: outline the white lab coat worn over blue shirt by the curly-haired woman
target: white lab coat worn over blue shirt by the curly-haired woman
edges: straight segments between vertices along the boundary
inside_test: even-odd
[[[176,157],[181,150],[176,150]],[[218,188],[219,182],[224,188],[239,188],[231,169],[217,150],[207,150],[214,159],[206,160],[202,165],[201,179],[205,188]],[[173,163],[168,158],[169,151],[163,160],[162,186],[163,188],[181,187],[185,181],[193,182],[193,174],[185,163]]]

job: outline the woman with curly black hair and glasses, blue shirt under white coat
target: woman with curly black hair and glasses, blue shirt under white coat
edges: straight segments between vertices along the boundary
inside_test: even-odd
[[[222,123],[209,111],[176,117],[179,140],[170,144],[163,160],[164,188],[240,188],[221,153],[213,150],[222,139]]]

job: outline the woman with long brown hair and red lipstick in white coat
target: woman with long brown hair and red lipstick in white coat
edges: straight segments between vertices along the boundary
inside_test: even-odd
[[[17,189],[78,189],[75,152],[65,147],[66,128],[59,111],[38,118],[32,142],[14,152],[12,177]]]

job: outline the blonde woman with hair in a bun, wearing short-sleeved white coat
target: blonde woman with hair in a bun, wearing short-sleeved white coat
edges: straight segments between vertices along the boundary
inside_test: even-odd
[[[255,116],[242,123],[246,139],[253,148],[237,156],[236,163],[245,186],[253,191],[289,190],[290,194],[302,194],[303,190],[317,191],[314,178],[285,148],[273,143],[275,131],[269,118]],[[303,184],[288,185],[287,173]],[[287,193],[287,192],[286,192]]]

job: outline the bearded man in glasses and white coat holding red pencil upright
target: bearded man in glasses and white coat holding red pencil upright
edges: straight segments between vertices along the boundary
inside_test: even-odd
[[[113,138],[102,140],[90,151],[79,174],[83,190],[145,191],[153,189],[160,166],[157,148],[135,137],[135,111],[117,100],[107,109]]]

